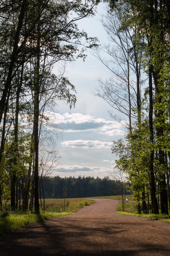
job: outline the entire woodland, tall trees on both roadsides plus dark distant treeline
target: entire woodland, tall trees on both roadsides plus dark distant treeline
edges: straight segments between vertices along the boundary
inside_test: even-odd
[[[112,73],[99,79],[95,94],[108,103],[110,115],[126,130],[124,139],[113,142],[112,153],[118,156],[113,178],[115,173],[119,180],[127,177],[139,213],[140,202],[143,212],[149,211],[146,201],[152,213],[158,214],[159,208],[168,213],[170,1],[104,1],[107,12],[101,22],[109,41],[105,49],[100,49],[97,38],[78,29],[78,21],[93,16],[98,4],[100,0],[0,3],[0,209],[10,198],[15,211],[22,199],[23,211],[34,205],[35,213],[40,213],[43,186],[46,197],[60,197],[58,185],[55,191],[46,191],[48,183],[54,190],[50,183],[55,179],[68,186],[72,197],[83,196],[87,188],[88,195],[91,190],[93,195],[114,190],[114,181],[106,177],[89,182],[88,177],[48,178],[61,160],[56,150],[60,128],[49,112],[60,101],[70,108],[76,104],[76,88],[65,76],[65,63],[85,59],[86,50],[93,49]],[[102,58],[102,50],[108,59]],[[71,184],[76,184],[73,190]]]

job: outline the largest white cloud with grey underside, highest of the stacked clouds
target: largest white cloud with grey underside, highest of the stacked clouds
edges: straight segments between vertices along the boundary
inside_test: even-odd
[[[105,132],[108,130],[116,129],[120,131],[122,124],[115,121],[108,121],[104,118],[94,118],[91,115],[83,115],[81,113],[65,113],[58,114],[54,112],[48,112],[47,115],[57,124],[60,124],[61,128],[65,132],[80,132],[80,131],[91,131],[99,130],[100,132]]]

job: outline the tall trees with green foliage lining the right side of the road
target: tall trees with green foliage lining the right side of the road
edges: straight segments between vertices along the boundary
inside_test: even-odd
[[[167,198],[170,204],[168,7],[166,1],[157,0],[108,2],[110,9],[102,19],[102,24],[111,42],[105,49],[110,59],[100,58],[99,53],[96,55],[113,76],[107,78],[105,82],[100,80],[101,90],[96,94],[107,101],[113,110],[118,110],[119,114],[128,113],[129,126],[125,125],[125,140],[113,142],[112,153],[119,157],[116,160],[116,168],[126,173],[139,213],[140,202],[145,213],[149,211],[159,213],[159,203],[161,213],[168,213]],[[115,37],[118,40],[115,40]],[[126,58],[123,58],[125,56]],[[113,68],[113,63],[117,66],[121,63],[118,71],[115,71],[115,66]],[[133,81],[130,79],[132,73]],[[149,87],[142,80],[145,80]],[[114,111],[111,111],[111,115],[116,119]]]

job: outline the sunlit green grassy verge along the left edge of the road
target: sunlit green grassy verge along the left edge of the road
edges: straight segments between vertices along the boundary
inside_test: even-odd
[[[77,212],[84,206],[89,206],[94,204],[95,201],[93,200],[72,200],[67,201],[66,212],[45,212],[41,214],[33,214],[33,213],[12,213],[12,212],[5,212],[1,213],[0,215],[0,235],[8,234],[10,232],[16,231],[20,227],[27,226],[29,224],[44,221],[47,219],[51,219],[58,216],[68,215],[73,212]],[[60,205],[60,207],[63,205]],[[55,209],[56,204],[52,209]],[[64,208],[64,207],[63,207]],[[62,208],[60,208],[60,211]]]

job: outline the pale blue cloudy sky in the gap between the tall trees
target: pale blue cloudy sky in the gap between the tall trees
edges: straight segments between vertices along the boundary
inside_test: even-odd
[[[101,46],[107,44],[107,35],[100,23],[105,13],[104,4],[98,6],[95,17],[78,21],[88,36],[98,37]],[[110,75],[109,70],[92,55],[67,63],[65,76],[75,85],[77,102],[75,108],[59,103],[55,113],[56,123],[63,129],[58,148],[62,157],[62,170],[53,173],[61,177],[94,176],[104,178],[112,171],[118,157],[112,154],[112,141],[125,134],[124,126],[113,120],[111,107],[93,92],[99,88],[98,78]],[[57,67],[56,67],[57,68]],[[118,114],[118,113],[116,113]]]

